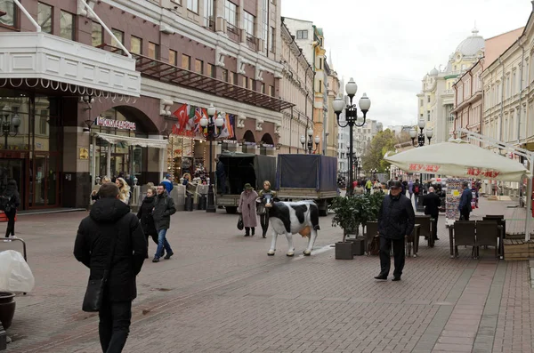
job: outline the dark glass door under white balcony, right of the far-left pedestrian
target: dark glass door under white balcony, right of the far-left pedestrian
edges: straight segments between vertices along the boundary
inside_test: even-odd
[[[59,197],[59,158],[57,153],[36,154],[33,159],[33,178],[30,178],[30,207],[57,207]]]

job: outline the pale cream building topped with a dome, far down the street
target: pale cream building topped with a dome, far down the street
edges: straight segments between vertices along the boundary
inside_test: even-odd
[[[450,54],[445,68],[433,68],[423,77],[422,90],[417,94],[417,120],[424,119],[425,128],[433,129],[433,140],[436,143],[449,140],[449,132],[453,128],[453,84],[458,76],[481,59],[483,51],[484,38],[474,28],[472,35],[458,44],[455,52]]]

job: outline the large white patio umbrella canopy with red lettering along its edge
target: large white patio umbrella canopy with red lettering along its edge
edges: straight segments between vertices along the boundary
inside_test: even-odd
[[[441,174],[455,177],[520,181],[530,172],[514,159],[461,140],[426,145],[391,155],[384,160],[406,172]]]

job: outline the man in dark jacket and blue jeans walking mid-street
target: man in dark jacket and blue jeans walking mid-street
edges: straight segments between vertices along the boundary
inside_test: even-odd
[[[170,259],[174,255],[171,245],[166,240],[166,232],[171,227],[171,215],[176,213],[173,197],[169,197],[163,182],[159,183],[156,189],[157,195],[154,200],[154,209],[152,210],[152,217],[154,224],[158,231],[158,249],[154,255],[152,262],[159,262],[159,258],[163,256],[163,249],[165,248],[165,259]]]

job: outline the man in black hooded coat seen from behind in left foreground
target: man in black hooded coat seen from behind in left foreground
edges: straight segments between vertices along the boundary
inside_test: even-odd
[[[130,206],[118,199],[117,185],[103,184],[99,195],[77,230],[74,256],[91,269],[90,279],[100,279],[112,241],[115,244],[99,313],[99,334],[102,351],[116,353],[124,348],[130,331],[132,301],[137,296],[135,277],[141,271],[147,241]]]

